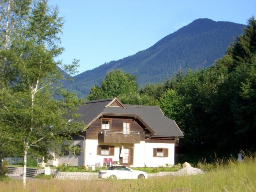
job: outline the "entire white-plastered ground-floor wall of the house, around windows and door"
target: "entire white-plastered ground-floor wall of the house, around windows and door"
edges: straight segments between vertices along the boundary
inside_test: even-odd
[[[81,146],[81,154],[79,156],[74,156],[72,152],[69,152],[68,156],[60,157],[53,152],[54,160],[49,160],[49,165],[62,165],[64,163],[69,163],[70,166],[83,166],[84,157],[84,144],[83,140],[73,140],[72,144]],[[65,142],[65,144],[67,144]],[[114,156],[103,156],[97,155],[97,147],[99,145],[109,145],[114,147]],[[148,143],[141,141],[139,144],[113,144],[113,143],[98,143],[98,140],[86,139],[85,140],[85,165],[94,166],[96,163],[100,163],[103,166],[104,158],[112,158],[113,161],[119,161],[120,148],[128,147],[134,148],[134,160],[131,167],[158,167],[165,166],[166,164],[174,164],[174,144],[169,143]],[[153,157],[153,148],[168,148],[168,157]]]

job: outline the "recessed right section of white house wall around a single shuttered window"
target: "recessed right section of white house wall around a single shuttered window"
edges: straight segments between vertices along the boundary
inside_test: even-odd
[[[168,157],[153,157],[153,148],[168,148]],[[172,143],[145,143],[145,165],[147,167],[166,166],[174,164],[174,144]]]

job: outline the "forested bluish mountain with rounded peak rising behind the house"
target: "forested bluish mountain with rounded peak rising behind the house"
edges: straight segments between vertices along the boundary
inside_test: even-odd
[[[162,82],[182,69],[208,67],[225,54],[227,47],[243,32],[245,25],[197,19],[159,40],[146,50],[74,76],[65,88],[84,96],[111,69],[135,74],[139,86]]]

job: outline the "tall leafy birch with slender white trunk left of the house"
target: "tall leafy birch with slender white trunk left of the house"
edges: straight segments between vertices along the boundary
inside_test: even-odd
[[[59,67],[74,74],[78,66],[77,60],[70,65],[54,60],[64,50],[59,46],[63,18],[58,8],[49,7],[46,0],[20,2],[2,2],[7,6],[4,14],[10,13],[8,6],[18,9],[9,14],[9,22],[1,22],[8,37],[2,38],[7,46],[2,44],[0,52],[0,148],[4,154],[23,157],[26,186],[28,153],[47,157],[84,125],[69,121],[79,117],[76,109],[82,100],[58,86],[63,78]]]

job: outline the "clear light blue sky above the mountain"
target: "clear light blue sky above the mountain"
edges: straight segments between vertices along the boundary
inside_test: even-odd
[[[246,24],[256,0],[49,0],[66,20],[59,57],[79,72],[144,50],[198,18]]]

